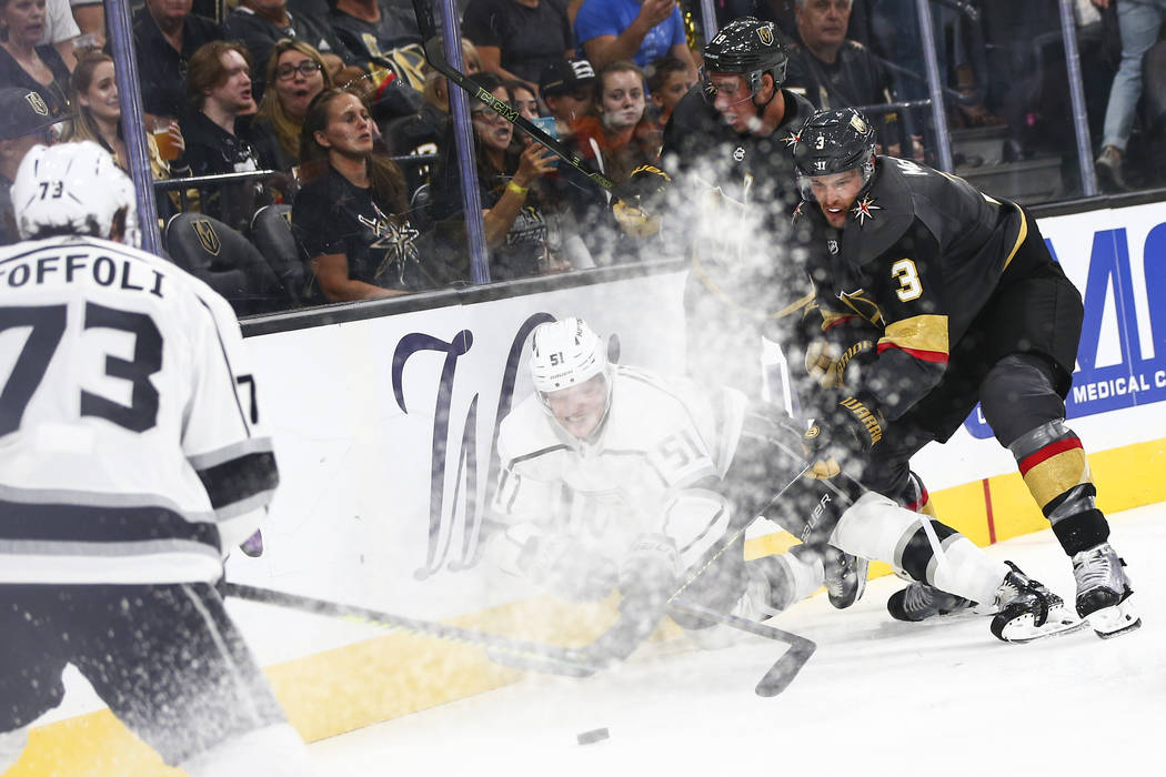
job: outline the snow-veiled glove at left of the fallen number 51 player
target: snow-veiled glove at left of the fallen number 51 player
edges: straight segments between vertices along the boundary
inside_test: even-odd
[[[531,537],[518,567],[534,582],[570,601],[599,601],[616,589],[616,563],[575,537],[548,534]]]

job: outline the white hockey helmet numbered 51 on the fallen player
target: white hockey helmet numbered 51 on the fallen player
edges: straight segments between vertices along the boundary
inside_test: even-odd
[[[607,370],[607,344],[582,318],[540,324],[531,335],[531,379],[540,395]]]

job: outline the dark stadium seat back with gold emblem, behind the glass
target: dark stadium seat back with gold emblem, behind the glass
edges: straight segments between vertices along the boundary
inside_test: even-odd
[[[178,213],[166,225],[174,263],[226,297],[239,316],[287,308],[287,292],[251,242],[217,219]]]

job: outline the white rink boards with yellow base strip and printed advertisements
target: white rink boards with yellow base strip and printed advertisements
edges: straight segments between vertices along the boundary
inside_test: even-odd
[[[1044,219],[1084,291],[1086,327],[1069,397],[1098,502],[1116,511],[1166,500],[1166,205]],[[531,326],[582,315],[616,332],[621,361],[683,368],[682,273],[251,337],[260,408],[282,486],[258,559],[229,577],[412,617],[580,643],[611,607],[564,608],[482,564],[479,530],[497,423],[531,391],[518,359]],[[1044,529],[1011,455],[977,418],[913,462],[943,520],[988,544]],[[753,537],[749,552],[786,548]],[[308,740],[512,681],[480,650],[344,621],[232,602]],[[133,740],[84,684],[34,730],[13,776],[178,774]]]

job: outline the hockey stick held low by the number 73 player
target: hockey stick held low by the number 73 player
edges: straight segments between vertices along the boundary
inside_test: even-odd
[[[498,634],[405,617],[403,615],[312,599],[272,588],[259,588],[237,582],[225,582],[222,588],[226,596],[246,599],[265,605],[276,605],[316,615],[344,617],[412,634],[420,634],[456,644],[483,648],[491,661],[511,669],[543,672],[547,674],[563,674],[567,677],[590,677],[599,670],[599,666],[588,663],[586,657],[578,650],[561,645],[512,640]]]

